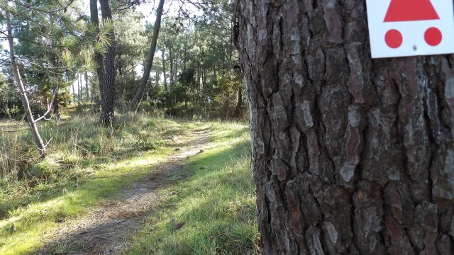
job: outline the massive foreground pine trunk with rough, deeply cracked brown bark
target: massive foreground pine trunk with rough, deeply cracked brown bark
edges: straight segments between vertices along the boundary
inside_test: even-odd
[[[363,0],[238,1],[262,253],[453,254],[453,55],[372,60]]]

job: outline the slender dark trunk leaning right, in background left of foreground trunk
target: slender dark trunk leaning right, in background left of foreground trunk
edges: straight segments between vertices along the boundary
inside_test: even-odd
[[[161,15],[162,8],[164,6],[165,0],[160,0],[159,6],[157,6],[157,16],[155,21],[155,26],[153,28],[153,38],[151,39],[150,51],[148,52],[148,60],[143,72],[142,79],[140,80],[140,86],[138,88],[135,97],[131,103],[131,111],[136,112],[139,106],[140,101],[142,101],[143,94],[145,94],[145,88],[147,87],[148,79],[150,78],[151,68],[153,67],[153,59],[155,58],[157,37],[159,35],[159,30],[161,26]],[[164,61],[164,51],[162,51],[162,61]],[[165,80],[165,74],[164,74]],[[164,81],[165,83],[165,81]],[[165,90],[167,91],[167,84],[165,85]]]

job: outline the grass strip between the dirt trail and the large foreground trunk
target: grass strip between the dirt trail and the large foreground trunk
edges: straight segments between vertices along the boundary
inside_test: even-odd
[[[160,191],[162,205],[131,237],[127,254],[258,254],[248,131],[223,126],[214,127],[214,149],[178,173],[192,176]]]

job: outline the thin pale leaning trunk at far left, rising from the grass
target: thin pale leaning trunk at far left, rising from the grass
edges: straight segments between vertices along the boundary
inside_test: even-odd
[[[26,112],[27,122],[28,126],[30,127],[33,140],[35,142],[36,147],[38,147],[40,157],[44,158],[46,154],[45,145],[43,139],[41,138],[40,132],[38,131],[38,125],[33,119],[33,113],[31,112],[30,103],[28,102],[26,88],[23,85],[21,74],[16,63],[16,55],[14,54],[13,31],[11,28],[11,16],[9,11],[6,11],[6,26],[8,30],[9,57],[11,60],[11,69],[13,69],[14,79],[16,80],[16,85],[18,86],[20,92],[23,109]]]

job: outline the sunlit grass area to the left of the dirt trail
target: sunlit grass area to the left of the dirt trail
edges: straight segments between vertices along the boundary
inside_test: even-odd
[[[168,137],[184,135],[189,125],[194,124],[145,115],[112,128],[97,125],[96,116],[70,118],[58,128],[43,123],[44,139],[52,137],[48,157],[21,165],[18,159],[35,156],[28,132],[0,132],[0,254],[28,254],[51,239],[55,229],[108,203],[164,162],[177,147]]]

